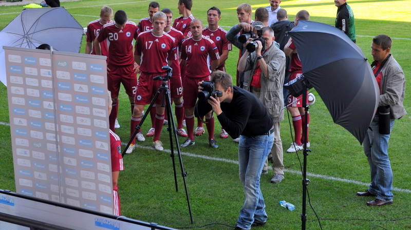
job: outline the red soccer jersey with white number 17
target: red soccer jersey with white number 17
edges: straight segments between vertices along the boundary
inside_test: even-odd
[[[141,56],[140,70],[145,73],[162,73],[167,60],[177,59],[175,40],[168,33],[155,36],[151,30],[138,35],[134,55]],[[139,63],[137,63],[139,64]]]

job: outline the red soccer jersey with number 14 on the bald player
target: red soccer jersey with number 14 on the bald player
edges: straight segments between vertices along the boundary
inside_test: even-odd
[[[204,78],[211,73],[210,59],[220,59],[220,54],[211,39],[202,36],[200,40],[195,41],[193,37],[190,37],[184,40],[181,46],[181,59],[186,63],[184,76]]]

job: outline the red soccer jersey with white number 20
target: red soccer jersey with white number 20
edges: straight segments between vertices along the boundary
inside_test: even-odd
[[[123,29],[119,29],[115,22],[107,23],[97,35],[99,42],[107,39],[108,62],[113,65],[133,65],[133,39],[137,37],[137,25],[127,21]]]

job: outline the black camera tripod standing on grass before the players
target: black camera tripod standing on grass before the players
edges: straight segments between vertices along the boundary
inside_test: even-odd
[[[136,130],[134,131],[132,138],[130,138],[130,140],[128,141],[128,144],[125,147],[125,149],[123,150],[121,155],[124,157],[124,154],[125,154],[126,150],[128,149],[128,146],[130,146],[133,139],[136,138],[136,135],[137,135],[138,131],[140,130],[142,124],[144,123],[145,118],[148,116],[148,114],[150,114],[149,110],[156,103],[156,100],[157,100],[158,96],[162,92],[163,94],[162,94],[162,99],[161,99],[161,106],[162,107],[165,106],[165,108],[166,108],[165,111],[167,112],[167,115],[169,116],[169,124],[168,124],[167,130],[169,131],[169,136],[170,136],[170,148],[171,148],[170,157],[173,159],[174,181],[175,181],[175,185],[176,185],[176,191],[178,191],[178,185],[177,185],[177,175],[176,175],[176,164],[175,164],[175,159],[174,159],[173,134],[174,134],[174,140],[175,140],[175,143],[176,143],[176,146],[177,146],[177,154],[178,154],[178,159],[180,161],[181,176],[182,176],[183,182],[184,182],[185,196],[186,196],[186,199],[187,199],[187,204],[189,206],[190,219],[191,219],[191,223],[193,224],[193,215],[191,213],[190,198],[189,198],[189,193],[188,193],[188,190],[187,190],[187,184],[185,183],[185,177],[187,176],[187,172],[184,171],[183,162],[182,162],[182,159],[181,159],[180,145],[178,143],[176,124],[175,124],[175,120],[174,120],[173,110],[172,110],[172,107],[171,107],[170,90],[169,90],[169,85],[168,85],[168,81],[171,79],[173,69],[169,66],[163,66],[161,69],[166,70],[166,74],[160,75],[160,76],[155,76],[153,78],[153,80],[162,81],[161,86],[157,90],[157,93],[154,96],[150,106],[148,106],[147,111],[144,113],[144,116],[141,118],[140,124],[138,124],[136,126]]]

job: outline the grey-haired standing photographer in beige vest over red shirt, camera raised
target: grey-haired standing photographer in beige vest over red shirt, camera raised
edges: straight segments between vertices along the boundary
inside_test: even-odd
[[[258,37],[249,38],[247,51],[238,62],[238,71],[248,71],[244,76],[244,89],[252,92],[264,106],[274,122],[274,145],[271,149],[273,159],[272,183],[284,179],[283,143],[280,137],[280,122],[284,119],[283,82],[286,57],[274,44],[274,31],[270,27],[254,26]],[[263,168],[264,173],[267,170]]]

